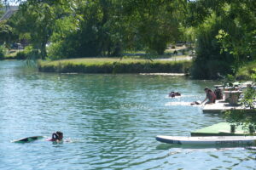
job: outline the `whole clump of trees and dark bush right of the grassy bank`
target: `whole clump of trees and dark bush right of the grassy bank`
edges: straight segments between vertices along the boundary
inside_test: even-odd
[[[189,3],[187,23],[198,32],[194,77],[235,74],[240,65],[255,59],[255,7],[252,0]]]

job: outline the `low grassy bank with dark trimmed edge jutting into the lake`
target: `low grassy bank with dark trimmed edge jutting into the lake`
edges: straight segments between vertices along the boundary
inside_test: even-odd
[[[38,70],[44,72],[79,73],[186,73],[191,61],[148,59],[86,58],[38,61]]]

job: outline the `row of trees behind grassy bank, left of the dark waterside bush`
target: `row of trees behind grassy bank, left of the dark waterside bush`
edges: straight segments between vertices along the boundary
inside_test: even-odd
[[[29,33],[42,58],[47,56],[49,41],[53,42],[50,55],[55,58],[116,56],[128,48],[163,54],[167,44],[181,34],[180,19],[186,5],[184,0],[20,2],[16,28],[20,34]]]

